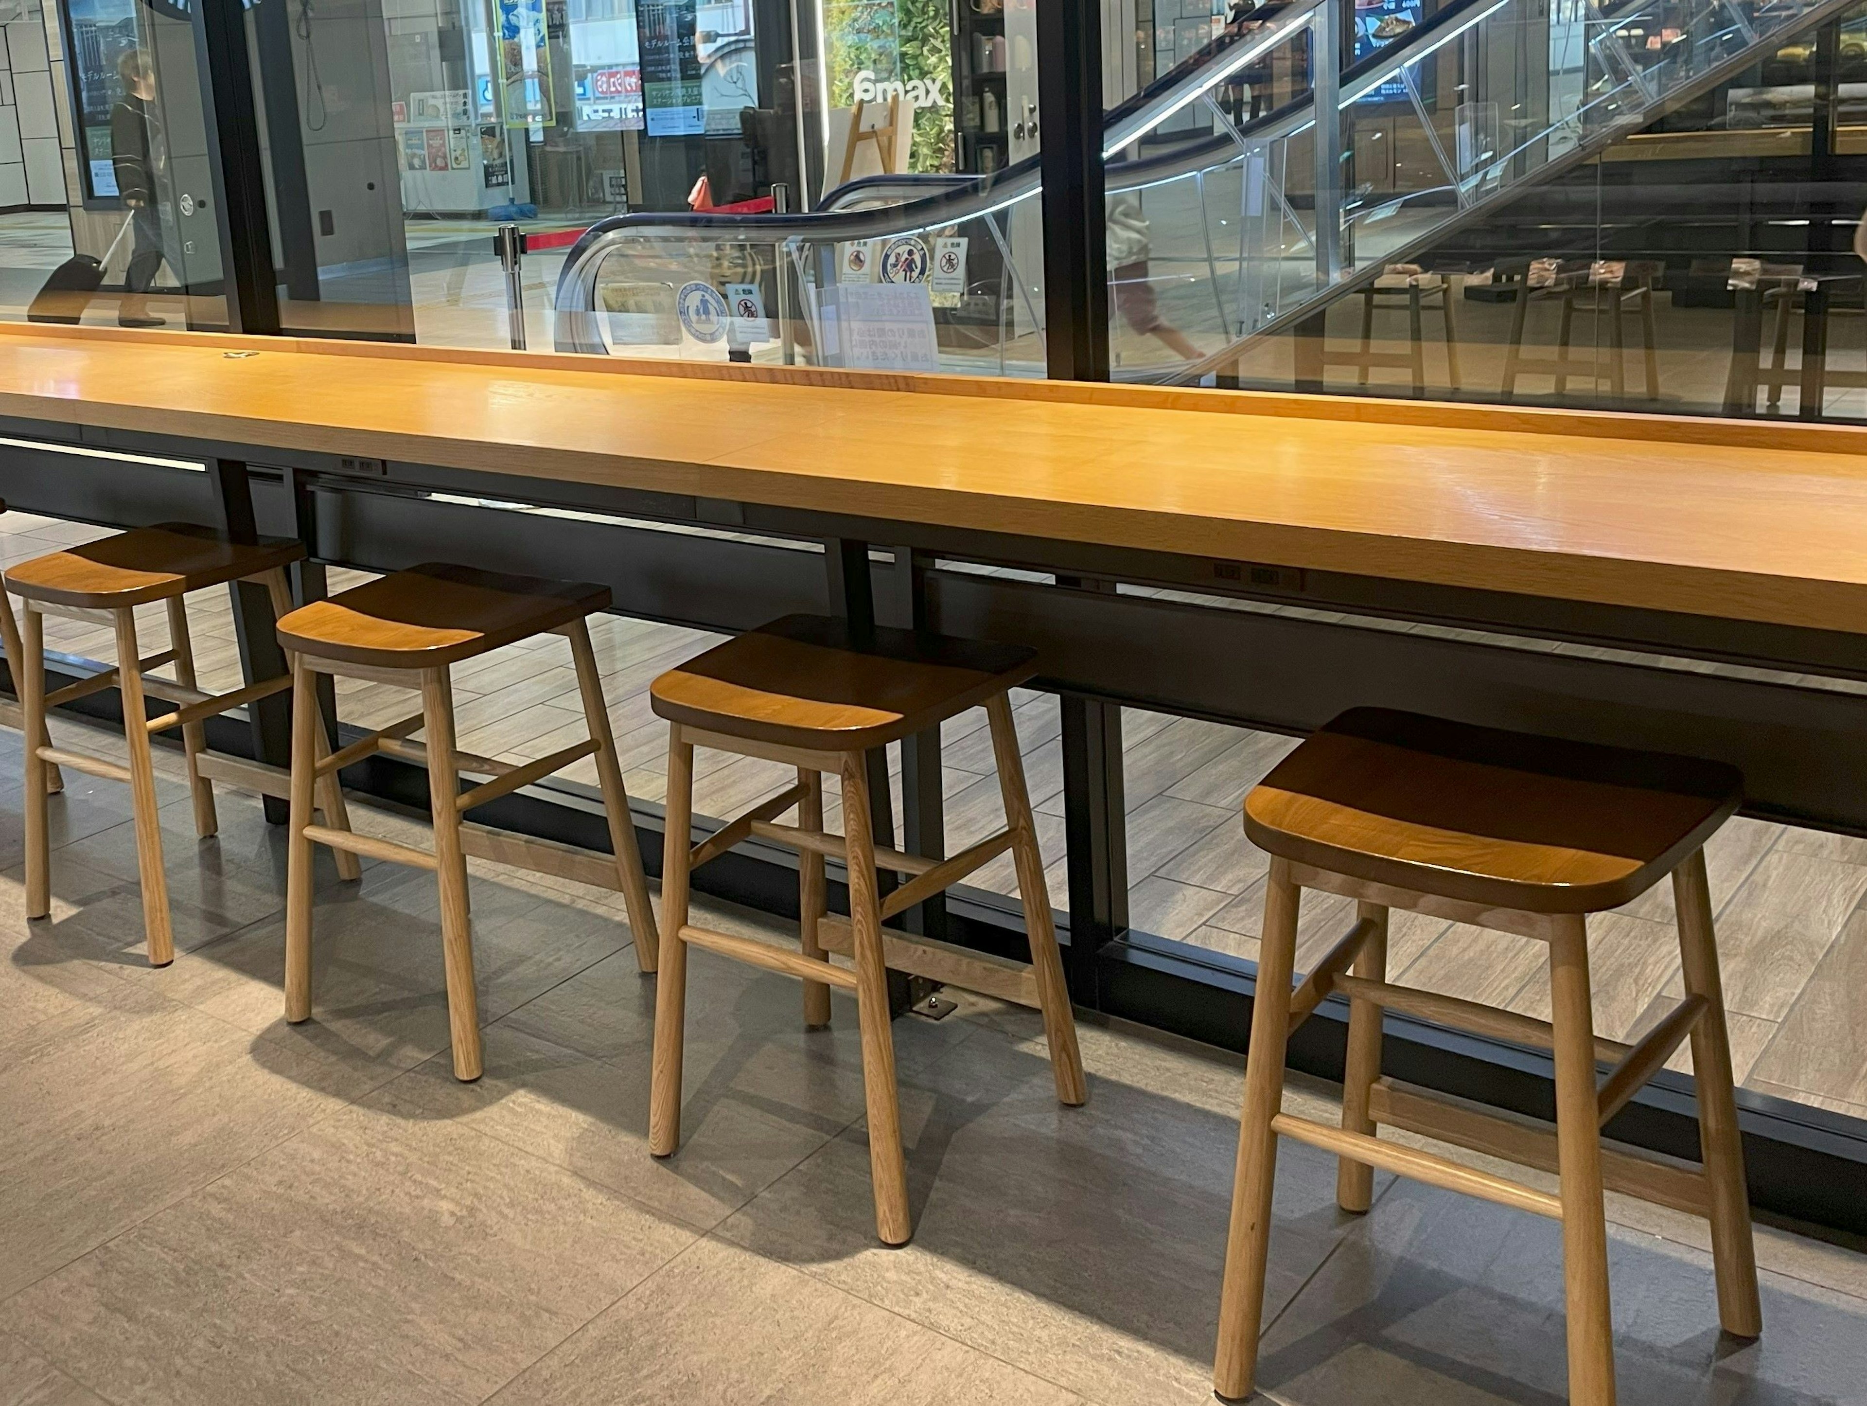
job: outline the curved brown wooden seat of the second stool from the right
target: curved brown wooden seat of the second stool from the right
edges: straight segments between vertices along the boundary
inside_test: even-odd
[[[808,751],[855,752],[937,726],[1036,672],[1036,652],[909,629],[853,640],[848,624],[792,614],[670,668],[650,706],[681,726]]]

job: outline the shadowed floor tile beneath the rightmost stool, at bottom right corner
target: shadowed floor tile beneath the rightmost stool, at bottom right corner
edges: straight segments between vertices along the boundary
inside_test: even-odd
[[[1764,1335],[1718,1329],[1710,1257],[1609,1229],[1621,1399],[1867,1400],[1867,1301],[1764,1275]],[[1400,1184],[1271,1324],[1258,1385],[1284,1406],[1566,1399],[1561,1229]]]

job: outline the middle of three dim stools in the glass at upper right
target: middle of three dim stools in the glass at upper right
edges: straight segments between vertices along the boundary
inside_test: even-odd
[[[1510,347],[1505,351],[1503,394],[1516,394],[1518,377],[1540,375],[1555,383],[1555,394],[1568,394],[1570,379],[1589,381],[1593,390],[1607,381],[1615,400],[1628,394],[1626,312],[1639,310],[1641,349],[1645,353],[1647,400],[1660,398],[1660,351],[1654,325],[1654,284],[1663,276],[1660,263],[1632,260],[1529,260],[1509,269],[1499,263],[1499,274],[1520,276],[1516,310],[1510,316]],[[1529,304],[1537,299],[1561,301],[1561,319],[1555,332],[1553,359],[1523,357],[1523,330]],[[1607,317],[1607,355],[1572,355],[1576,312]]]

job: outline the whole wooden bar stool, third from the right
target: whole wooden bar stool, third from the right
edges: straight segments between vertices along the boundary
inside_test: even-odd
[[[478,1079],[482,1072],[467,855],[620,891],[635,935],[637,965],[642,971],[655,969],[655,913],[648,902],[629,795],[622,786],[603,682],[586,626],[586,618],[609,609],[609,586],[428,564],[379,577],[327,601],[312,601],[278,622],[278,639],[291,654],[293,674],[291,859],[286,870],[288,1021],[310,1019],[312,1014],[312,844],[435,870],[441,883],[441,949],[457,1079]],[[543,633],[564,635],[571,642],[590,736],[523,766],[459,751],[454,745],[448,667]],[[316,724],[317,674],[418,691],[422,708],[325,756],[317,745],[323,736]],[[426,745],[407,739],[416,730],[424,734]],[[435,822],[431,851],[312,823],[314,786],[373,752],[428,767]],[[612,859],[568,844],[463,823],[461,818],[476,805],[530,786],[584,756],[596,758]],[[461,771],[491,780],[461,792]]]

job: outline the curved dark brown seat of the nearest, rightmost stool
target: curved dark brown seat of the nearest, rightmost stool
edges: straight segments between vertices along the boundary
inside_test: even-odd
[[[1529,913],[1632,902],[1738,808],[1727,766],[1355,708],[1245,797],[1313,868]]]

